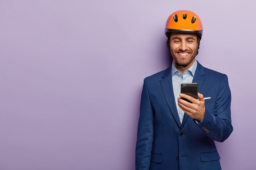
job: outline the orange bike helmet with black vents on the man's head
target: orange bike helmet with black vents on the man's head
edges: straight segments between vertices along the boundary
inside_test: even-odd
[[[165,35],[171,32],[203,34],[203,25],[195,13],[192,11],[180,10],[172,13],[166,21]]]

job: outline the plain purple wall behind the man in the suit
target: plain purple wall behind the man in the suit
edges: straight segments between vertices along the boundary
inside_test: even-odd
[[[1,0],[0,170],[134,170],[144,77],[171,60],[168,16],[197,13],[197,60],[225,73],[223,170],[255,166],[255,9],[246,0]]]

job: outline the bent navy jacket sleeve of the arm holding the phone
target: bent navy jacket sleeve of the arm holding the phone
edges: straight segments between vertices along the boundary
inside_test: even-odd
[[[198,124],[205,134],[215,141],[225,141],[231,132],[231,92],[229,89],[227,75],[222,77],[213,113],[205,110],[203,121]]]

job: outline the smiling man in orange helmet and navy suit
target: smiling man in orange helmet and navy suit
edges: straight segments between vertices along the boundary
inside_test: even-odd
[[[165,33],[173,63],[144,79],[136,170],[221,170],[214,141],[233,131],[227,75],[195,60],[202,37],[198,15],[172,13]],[[191,82],[198,83],[199,99],[180,94],[181,83]]]

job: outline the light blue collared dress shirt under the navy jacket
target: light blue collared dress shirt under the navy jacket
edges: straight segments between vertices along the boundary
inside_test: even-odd
[[[178,106],[177,98],[180,97],[180,85],[182,83],[192,83],[193,77],[195,75],[195,69],[198,65],[198,62],[195,60],[194,64],[186,70],[183,74],[177,70],[177,68],[172,64],[172,78],[173,78],[173,94],[175,97],[175,103],[177,107],[177,111],[180,117],[180,123],[182,123],[184,117],[184,111]]]

